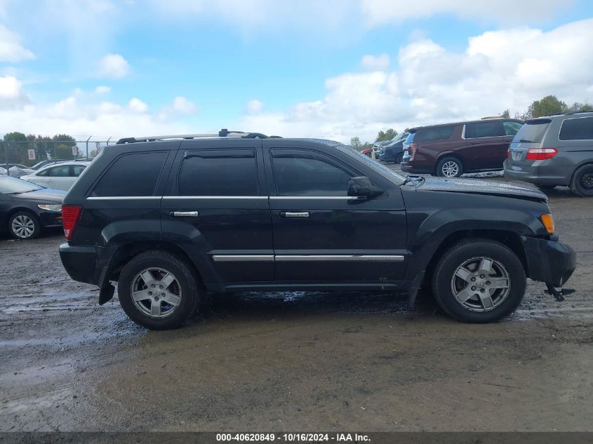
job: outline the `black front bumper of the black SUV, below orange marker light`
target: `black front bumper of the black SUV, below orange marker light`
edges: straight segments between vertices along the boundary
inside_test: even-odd
[[[521,236],[526,260],[527,276],[533,281],[561,287],[576,268],[576,253],[557,240]]]

